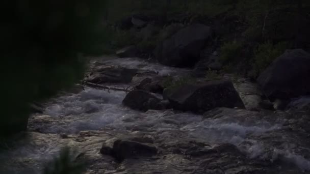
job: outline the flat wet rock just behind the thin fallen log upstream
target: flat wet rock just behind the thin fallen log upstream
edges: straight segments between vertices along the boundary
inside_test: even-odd
[[[97,84],[104,83],[129,83],[136,75],[136,69],[127,69],[123,67],[95,67],[85,78],[85,81]]]

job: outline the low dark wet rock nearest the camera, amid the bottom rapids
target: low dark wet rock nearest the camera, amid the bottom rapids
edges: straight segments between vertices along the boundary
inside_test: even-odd
[[[119,162],[126,158],[156,155],[157,152],[156,147],[129,140],[116,140],[113,148],[102,146],[100,149],[101,154],[112,155]]]

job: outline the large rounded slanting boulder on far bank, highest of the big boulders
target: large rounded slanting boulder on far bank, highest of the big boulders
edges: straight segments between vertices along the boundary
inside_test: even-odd
[[[164,65],[193,66],[199,60],[200,51],[211,35],[212,30],[209,26],[203,24],[187,26],[160,43],[154,55]]]

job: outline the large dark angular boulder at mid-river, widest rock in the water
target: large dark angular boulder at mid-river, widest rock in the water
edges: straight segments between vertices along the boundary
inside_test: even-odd
[[[177,110],[203,113],[216,107],[244,108],[233,83],[226,80],[185,84],[168,92],[165,90],[165,93]]]

